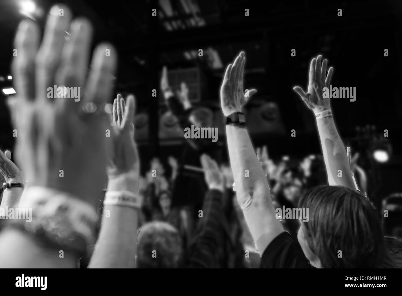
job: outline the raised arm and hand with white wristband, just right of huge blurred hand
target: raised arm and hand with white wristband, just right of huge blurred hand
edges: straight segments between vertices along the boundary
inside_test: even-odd
[[[102,226],[90,268],[134,268],[139,215],[139,157],[134,143],[134,96],[113,103],[113,135]]]

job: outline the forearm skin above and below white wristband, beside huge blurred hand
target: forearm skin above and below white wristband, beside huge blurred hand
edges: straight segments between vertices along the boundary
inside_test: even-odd
[[[139,176],[121,175],[110,178],[108,191],[127,190],[138,194]],[[139,209],[120,205],[105,205],[102,226],[90,268],[134,268],[137,246]]]

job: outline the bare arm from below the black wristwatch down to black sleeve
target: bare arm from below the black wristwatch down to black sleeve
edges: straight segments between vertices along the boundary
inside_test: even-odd
[[[226,136],[237,199],[254,241],[263,252],[283,228],[275,218],[269,186],[246,128],[227,125]]]

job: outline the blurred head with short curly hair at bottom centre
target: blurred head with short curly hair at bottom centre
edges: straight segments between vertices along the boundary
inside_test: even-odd
[[[176,228],[159,221],[141,227],[135,268],[177,268],[181,257],[181,239]]]

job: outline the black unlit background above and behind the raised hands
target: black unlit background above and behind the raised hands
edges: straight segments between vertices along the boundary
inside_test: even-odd
[[[61,2],[68,4],[75,16],[90,19],[94,25],[94,45],[100,41],[115,45],[119,53],[115,90],[134,93],[138,112],[148,115],[148,135],[139,141],[144,160],[178,156],[177,147],[184,140],[160,139],[159,120],[165,107],[160,103],[160,93],[159,100],[151,93],[152,89],[159,91],[162,66],[170,70],[195,68],[202,78],[195,105],[209,106],[219,117],[219,86],[224,68],[240,50],[247,57],[245,88],[258,89],[248,110],[282,126],[281,131],[250,129],[254,144],[268,144],[274,159],[282,155],[301,158],[321,153],[314,117],[292,88],[306,87],[311,58],[323,54],[334,66],[332,85],[357,89],[355,102],[332,99],[341,136],[351,143],[353,151],[361,153],[361,165],[368,170],[372,182],[378,184],[381,196],[401,191],[402,1],[33,2],[43,12],[35,17],[41,27],[50,6]],[[20,3],[0,0],[0,77],[5,77],[0,81],[1,89],[12,84],[7,75],[14,33],[24,18]],[[157,9],[157,17],[152,17],[152,8]],[[250,10],[249,17],[244,16],[246,8]],[[342,17],[337,16],[338,8],[342,9]],[[214,55],[207,54],[209,48]],[[203,49],[203,57],[191,56],[199,49]],[[295,57],[291,56],[292,49],[296,50]],[[384,49],[389,50],[388,57],[384,57]],[[1,92],[0,148],[12,151],[14,138],[5,99]],[[274,102],[278,111],[266,105],[263,108],[267,102]],[[367,127],[369,131],[364,131]],[[292,129],[296,130],[294,138],[290,137]],[[392,155],[386,164],[376,164],[370,155],[375,149],[375,135],[384,140],[384,129],[389,130],[386,140],[391,143]],[[224,147],[224,137],[218,139],[217,145]],[[146,165],[144,169],[148,169]]]

